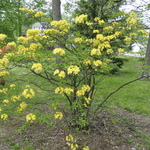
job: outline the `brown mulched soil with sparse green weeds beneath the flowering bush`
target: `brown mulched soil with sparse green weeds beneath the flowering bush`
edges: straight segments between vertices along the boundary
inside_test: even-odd
[[[32,123],[16,133],[20,125],[13,120],[0,123],[0,150],[70,150],[65,140],[69,133],[76,136],[79,150],[84,145],[90,150],[150,150],[150,118],[121,108],[100,113],[86,132],[69,129],[63,120],[52,127]]]

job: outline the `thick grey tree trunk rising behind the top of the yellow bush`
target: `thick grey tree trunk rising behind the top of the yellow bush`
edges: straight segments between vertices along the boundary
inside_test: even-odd
[[[59,21],[61,20],[61,1],[60,0],[52,0],[52,13],[53,20]]]

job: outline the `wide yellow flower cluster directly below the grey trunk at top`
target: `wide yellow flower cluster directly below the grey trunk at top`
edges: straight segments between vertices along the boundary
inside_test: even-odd
[[[66,32],[70,29],[70,24],[66,20],[52,21],[51,26]]]

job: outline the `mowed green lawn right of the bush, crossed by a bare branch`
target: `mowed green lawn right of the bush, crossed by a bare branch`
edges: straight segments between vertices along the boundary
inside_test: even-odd
[[[99,83],[100,90],[96,100],[103,101],[111,92],[121,85],[136,79],[142,71],[142,61],[136,57],[127,56],[123,68],[117,75],[110,75]],[[128,84],[114,93],[105,105],[125,108],[129,111],[150,116],[150,80],[141,79]]]

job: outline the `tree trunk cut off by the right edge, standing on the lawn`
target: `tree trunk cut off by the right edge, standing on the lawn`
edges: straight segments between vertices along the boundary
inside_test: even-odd
[[[147,50],[145,55],[145,66],[143,72],[140,73],[139,77],[144,77],[150,79],[150,32],[147,44]]]

